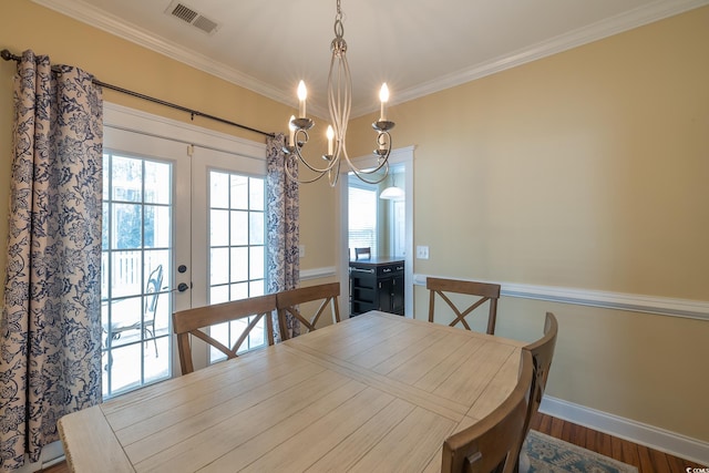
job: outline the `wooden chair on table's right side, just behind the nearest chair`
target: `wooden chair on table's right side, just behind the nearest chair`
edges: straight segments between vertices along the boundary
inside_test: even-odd
[[[558,335],[558,322],[556,317],[552,312],[546,312],[544,319],[544,335],[537,341],[530,343],[523,348],[532,354],[532,362],[534,366],[534,377],[532,378],[532,389],[530,393],[530,404],[524,418],[524,436],[520,444],[520,456],[517,471],[525,472],[528,469],[528,464],[524,453],[524,440],[530,433],[530,424],[532,418],[536,415],[544,397],[544,390],[546,389],[546,380],[549,376],[549,368],[552,367],[552,359],[554,358],[554,348],[556,347],[556,336]]]

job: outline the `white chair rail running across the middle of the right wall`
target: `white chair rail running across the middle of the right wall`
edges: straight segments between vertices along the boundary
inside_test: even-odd
[[[413,284],[425,287],[425,279],[429,275],[414,275]],[[610,292],[555,286],[535,286],[500,281],[487,282],[497,282],[499,285],[501,285],[501,295],[507,297],[547,300],[551,302],[573,304],[578,306],[592,306],[605,309],[628,310],[633,312],[655,313],[669,317],[709,320],[709,301],[703,300],[672,299],[667,297],[643,296],[636,294]]]

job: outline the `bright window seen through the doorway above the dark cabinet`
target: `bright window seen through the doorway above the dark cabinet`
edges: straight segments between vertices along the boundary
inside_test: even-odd
[[[371,248],[377,254],[377,187],[367,184],[349,184],[349,248],[350,258],[354,248]]]

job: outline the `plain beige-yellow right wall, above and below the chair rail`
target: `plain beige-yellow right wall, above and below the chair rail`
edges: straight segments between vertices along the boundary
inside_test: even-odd
[[[392,106],[414,273],[708,301],[708,45],[705,7]],[[551,395],[709,441],[708,321],[505,297],[497,333],[531,341],[546,310]]]

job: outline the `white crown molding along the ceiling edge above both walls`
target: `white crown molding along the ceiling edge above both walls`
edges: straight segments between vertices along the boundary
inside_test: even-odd
[[[32,0],[34,3],[58,11],[75,20],[91,24],[111,34],[117,35],[141,47],[166,55],[175,61],[184,62],[193,68],[215,75],[227,82],[248,89],[260,95],[275,100],[286,105],[292,105],[292,94],[287,91],[273,88],[240,71],[227,68],[209,58],[178,48],[140,28],[124,24],[119,18],[106,14],[104,11],[88,4],[81,0]],[[613,34],[621,33],[665,18],[669,18],[689,10],[709,4],[709,0],[657,0],[647,6],[639,7],[626,13],[599,21],[585,28],[561,34],[548,41],[532,44],[511,54],[495,58],[491,61],[472,68],[452,72],[450,74],[427,82],[422,85],[398,91],[392,105],[420,99],[434,92],[440,92],[476,79],[502,72],[527,62],[536,61],[583,44],[597,41]],[[312,105],[312,112],[317,116],[327,116],[327,110]],[[352,117],[371,113],[367,106],[353,106]]]

